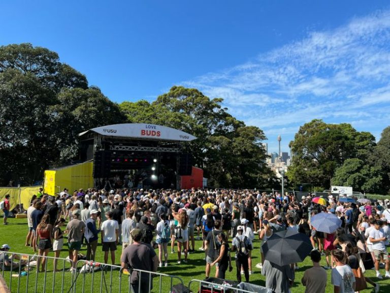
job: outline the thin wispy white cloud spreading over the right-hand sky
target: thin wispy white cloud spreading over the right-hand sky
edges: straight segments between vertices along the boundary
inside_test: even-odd
[[[390,108],[389,44],[390,11],[380,11],[184,85],[223,98],[233,115],[269,139],[278,131],[293,139],[312,119],[380,133],[389,121],[383,111]]]

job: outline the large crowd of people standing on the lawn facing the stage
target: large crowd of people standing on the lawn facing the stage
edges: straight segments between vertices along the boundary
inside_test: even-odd
[[[74,261],[71,270],[75,272],[81,245],[87,246],[86,259],[94,260],[100,234],[105,263],[110,255],[111,263],[115,264],[115,251],[121,246],[123,268],[156,271],[158,267],[169,266],[168,247],[171,253],[176,250],[177,263],[185,264],[189,254],[197,249],[195,240],[202,240],[198,249],[205,252],[206,277],[215,268],[215,277],[224,279],[225,272],[233,270],[231,253],[234,253],[237,280],[240,282],[244,276],[249,282],[255,235],[263,245],[274,233],[287,229],[307,235],[314,248],[310,254],[313,268],[302,279],[306,292],[324,292],[328,269],[332,270],[335,291],[353,292],[354,273],[369,257],[374,261],[377,278],[383,278],[379,271],[382,266],[384,277],[390,278],[386,250],[390,236],[389,201],[344,203],[329,195],[327,204],[321,205],[314,203],[313,197],[310,193],[297,198],[293,193],[195,188],[80,189],[72,194],[64,189],[54,197],[40,190],[27,209],[29,228],[25,245],[38,250],[39,256],[52,249],[58,257],[64,245],[63,235],[67,235],[69,257]],[[311,226],[311,217],[321,212],[335,214],[341,220],[334,233],[317,231]],[[275,292],[288,292],[298,263],[279,267],[266,260],[262,248],[261,256],[256,267],[266,276],[266,286]],[[326,259],[324,267],[319,265],[321,256]],[[44,261],[42,258],[38,262],[38,271],[44,269]],[[131,279],[138,284],[137,276]],[[379,284],[365,280],[379,291]]]

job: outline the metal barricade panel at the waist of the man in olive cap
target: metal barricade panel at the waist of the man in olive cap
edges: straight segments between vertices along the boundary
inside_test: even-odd
[[[79,260],[76,268],[77,273],[68,290],[64,291],[66,293],[130,293],[133,292],[132,286],[137,287],[139,292],[168,293],[174,285],[184,285],[183,280],[177,276],[136,269],[123,270],[120,266],[89,260]],[[137,274],[142,281],[131,284],[131,274]]]

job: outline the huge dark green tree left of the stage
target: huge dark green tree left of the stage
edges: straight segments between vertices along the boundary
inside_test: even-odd
[[[0,47],[0,106],[0,184],[41,180],[74,157],[79,132],[124,120],[83,74],[31,44]]]

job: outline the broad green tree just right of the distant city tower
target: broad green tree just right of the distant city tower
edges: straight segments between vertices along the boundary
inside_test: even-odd
[[[368,160],[375,139],[369,132],[357,132],[349,124],[313,120],[300,127],[289,146],[293,159],[287,176],[291,183],[329,188],[335,170],[346,159]]]

